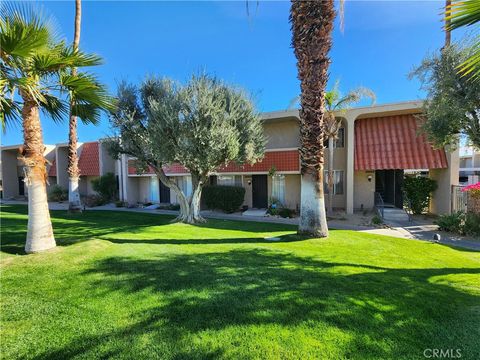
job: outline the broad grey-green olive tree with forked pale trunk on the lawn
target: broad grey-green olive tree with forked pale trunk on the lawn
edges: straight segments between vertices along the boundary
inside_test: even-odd
[[[121,84],[118,107],[111,116],[116,137],[114,156],[137,159],[137,169],[150,166],[180,204],[178,221],[203,221],[202,188],[211,173],[235,161],[253,164],[263,157],[265,138],[258,113],[246,95],[207,75],[193,76],[185,86],[150,78],[139,88]],[[187,197],[163,166],[180,163],[192,176]]]

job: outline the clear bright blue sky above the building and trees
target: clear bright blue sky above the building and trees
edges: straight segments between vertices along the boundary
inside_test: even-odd
[[[41,2],[67,41],[73,37],[73,1]],[[237,84],[261,111],[283,110],[300,92],[291,48],[288,1],[127,2],[84,1],[81,48],[104,58],[93,71],[112,93],[121,80],[148,74],[185,81],[207,71]],[[345,5],[345,29],[334,32],[330,83],[371,88],[377,103],[422,98],[407,74],[440,48],[444,1],[355,1]],[[454,33],[454,39],[458,34]],[[66,142],[68,124],[42,117],[44,141]],[[79,127],[79,140],[110,134],[108,120]],[[21,127],[2,134],[2,145],[22,143]]]

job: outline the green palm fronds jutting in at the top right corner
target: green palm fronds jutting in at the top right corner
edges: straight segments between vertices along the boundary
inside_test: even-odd
[[[478,22],[480,22],[480,1],[454,0],[451,4],[446,4],[445,30],[447,34],[451,30],[472,26]],[[449,42],[449,39],[447,41]],[[476,35],[472,48],[473,54],[459,66],[459,71],[478,80],[480,79],[480,35]]]

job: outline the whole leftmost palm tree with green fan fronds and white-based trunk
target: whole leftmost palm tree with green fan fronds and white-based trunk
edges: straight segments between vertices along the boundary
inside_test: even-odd
[[[68,101],[61,97],[66,93],[75,100],[74,115],[95,121],[100,109],[111,108],[112,101],[95,77],[70,72],[74,67],[98,65],[100,58],[59,41],[51,21],[38,9],[3,5],[0,15],[0,120],[3,126],[22,121],[20,159],[28,192],[25,251],[38,252],[56,245],[48,211],[40,111],[61,121],[68,114]]]

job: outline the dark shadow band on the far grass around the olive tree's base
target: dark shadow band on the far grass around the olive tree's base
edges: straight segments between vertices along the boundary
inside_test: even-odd
[[[27,234],[27,207],[25,205],[2,205],[2,244],[1,250],[10,254],[25,254],[25,238]],[[117,239],[113,234],[126,232],[130,235],[141,233],[150,226],[169,225],[175,218],[172,215],[134,213],[125,211],[87,210],[81,214],[70,214],[67,211],[50,211],[57,245],[67,246],[91,239],[106,239],[115,243],[148,243],[148,244],[220,244],[220,243],[252,243],[268,242],[263,238],[220,238],[220,239]],[[246,221],[227,221],[210,219],[200,228],[218,230],[239,230],[252,233],[289,231],[296,227],[283,224],[251,223]],[[304,240],[304,237],[288,236],[280,241]]]

